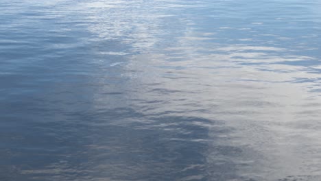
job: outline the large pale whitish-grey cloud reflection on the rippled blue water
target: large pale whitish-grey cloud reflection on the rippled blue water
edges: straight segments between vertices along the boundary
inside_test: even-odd
[[[260,36],[268,33],[261,32],[263,29],[222,29],[221,25],[214,32],[206,32],[206,29],[194,28],[206,25],[195,21],[188,14],[181,15],[184,17],[182,18],[177,15],[178,12],[171,16],[163,16],[166,14],[164,12],[153,13],[153,16],[131,14],[134,19],[127,21],[130,25],[113,26],[114,30],[136,27],[130,29],[133,36],[128,39],[134,42],[133,53],[139,51],[140,54],[131,56],[130,61],[123,67],[126,69],[125,77],[130,78],[129,97],[135,97],[132,104],[137,111],[145,114],[145,117],[188,115],[222,120],[223,128],[229,130],[222,135],[216,130],[217,126],[220,128],[222,125],[207,123],[205,127],[209,130],[209,137],[206,136],[204,140],[209,146],[206,169],[212,179],[219,178],[220,173],[215,175],[215,165],[219,162],[217,159],[222,159],[223,165],[217,167],[224,171],[235,167],[231,169],[235,172],[233,174],[239,173],[258,179],[271,174],[275,179],[287,176],[289,179],[305,179],[305,176],[300,176],[301,173],[305,175],[310,173],[309,169],[318,168],[317,165],[305,163],[309,162],[306,160],[311,156],[306,154],[307,152],[320,149],[318,136],[309,134],[311,130],[305,128],[307,125],[318,128],[320,110],[313,109],[315,106],[312,109],[304,106],[316,105],[320,101],[320,94],[313,92],[318,90],[320,75],[318,72],[309,71],[314,66],[313,62],[319,64],[318,57],[300,56],[300,51],[278,45],[280,40],[293,40],[283,38],[284,35],[272,34],[266,46],[254,45],[255,41],[261,42]],[[117,19],[119,17],[117,16]],[[141,17],[144,18],[140,19]],[[135,21],[138,22],[135,24]],[[168,25],[168,21],[176,22],[175,30]],[[164,28],[163,24],[167,26]],[[257,36],[240,37],[240,41],[248,40],[247,44],[217,43],[225,29],[234,34],[241,35],[239,31],[242,31],[246,32],[246,35]],[[110,37],[108,34],[106,36]],[[175,41],[167,43],[168,39]],[[125,40],[124,43],[130,41]],[[301,48],[318,49],[305,46]],[[302,112],[309,113],[299,116]],[[163,128],[165,132],[174,131],[171,124],[167,125],[162,121],[159,126],[157,124],[158,122],[146,121],[145,125],[143,123],[139,128],[150,129],[152,125],[152,128]],[[198,126],[194,125],[194,128]],[[213,143],[213,136],[222,138],[222,143]],[[227,141],[224,138],[229,139]],[[314,146],[305,147],[302,143]],[[219,147],[230,148],[217,154]],[[233,154],[228,154],[228,158],[225,158],[224,153],[228,152]],[[233,160],[226,162],[231,158]],[[317,152],[311,156],[311,159],[319,158]],[[227,164],[226,169],[224,164]],[[220,176],[224,177],[224,171]],[[252,173],[255,174],[251,175]],[[226,173],[225,176],[227,175]],[[201,178],[196,176],[195,179]]]

